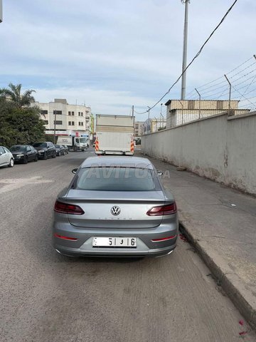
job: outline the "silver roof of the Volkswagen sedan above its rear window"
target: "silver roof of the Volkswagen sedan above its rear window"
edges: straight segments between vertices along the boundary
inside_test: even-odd
[[[136,167],[154,170],[153,165],[147,158],[129,156],[97,156],[88,157],[82,162],[81,167]]]

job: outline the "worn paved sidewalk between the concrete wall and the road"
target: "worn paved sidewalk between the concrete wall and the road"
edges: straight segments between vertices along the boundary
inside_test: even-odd
[[[142,155],[137,151],[135,155]],[[174,194],[183,231],[256,328],[256,199],[148,157]],[[255,180],[256,181],[256,180]]]

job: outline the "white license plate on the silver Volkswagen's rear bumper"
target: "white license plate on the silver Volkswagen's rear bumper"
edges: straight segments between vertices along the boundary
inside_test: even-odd
[[[92,247],[136,248],[136,237],[94,237]]]

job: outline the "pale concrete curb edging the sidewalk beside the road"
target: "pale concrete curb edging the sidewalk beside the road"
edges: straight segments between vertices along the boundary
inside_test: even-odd
[[[210,250],[206,242],[199,240],[193,235],[189,223],[183,219],[182,213],[179,214],[181,224],[180,230],[186,236],[189,242],[196,249],[198,254],[210,269],[211,273],[217,280],[225,294],[233,301],[233,304],[238,308],[240,314],[244,316],[250,326],[256,330],[256,297],[252,291],[246,288],[245,283],[234,273],[230,267],[225,264],[216,252]]]

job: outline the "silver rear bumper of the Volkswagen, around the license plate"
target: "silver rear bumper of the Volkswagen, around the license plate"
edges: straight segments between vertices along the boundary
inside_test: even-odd
[[[55,237],[71,237],[70,241]],[[92,247],[93,237],[136,237],[136,248]],[[161,242],[153,239],[173,237]],[[77,229],[71,224],[54,222],[53,248],[60,254],[70,257],[161,257],[174,251],[178,237],[178,222],[176,224],[160,224],[149,229]]]

